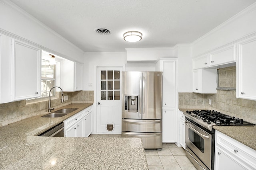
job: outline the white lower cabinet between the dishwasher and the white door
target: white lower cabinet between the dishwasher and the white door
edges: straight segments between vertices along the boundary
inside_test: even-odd
[[[92,133],[92,106],[63,122],[65,137],[88,137]]]

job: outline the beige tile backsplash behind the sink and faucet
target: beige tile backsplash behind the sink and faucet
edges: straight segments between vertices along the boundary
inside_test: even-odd
[[[61,103],[60,100],[51,100],[52,107],[58,109],[68,104],[94,103],[94,91],[64,92],[68,100]],[[56,92],[56,97],[59,92]],[[48,100],[26,104],[26,100],[0,104],[0,127],[32,117],[48,111]]]

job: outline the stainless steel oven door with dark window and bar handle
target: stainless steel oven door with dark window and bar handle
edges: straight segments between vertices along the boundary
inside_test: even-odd
[[[196,155],[194,160],[196,160],[197,164],[200,165],[200,163],[203,162],[209,169],[211,169],[212,135],[186,120],[185,143],[186,146],[194,152],[194,155]],[[189,149],[186,151],[189,152]],[[191,153],[191,155],[193,154]],[[204,167],[202,163],[200,166]]]

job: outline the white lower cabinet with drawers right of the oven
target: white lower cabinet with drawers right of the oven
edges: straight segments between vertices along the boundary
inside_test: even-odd
[[[255,170],[256,150],[216,131],[216,170]]]

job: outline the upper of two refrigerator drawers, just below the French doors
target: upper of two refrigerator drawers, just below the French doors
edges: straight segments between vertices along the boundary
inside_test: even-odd
[[[122,119],[122,131],[162,132],[162,120]]]

